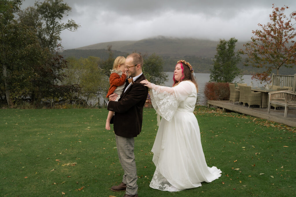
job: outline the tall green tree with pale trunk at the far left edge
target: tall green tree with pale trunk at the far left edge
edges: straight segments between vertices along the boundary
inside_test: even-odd
[[[39,59],[40,47],[33,30],[15,20],[21,2],[0,2],[0,84],[9,107],[15,99],[27,95],[26,85],[32,75],[28,65]]]

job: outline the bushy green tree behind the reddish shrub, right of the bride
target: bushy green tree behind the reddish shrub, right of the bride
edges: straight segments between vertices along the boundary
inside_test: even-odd
[[[234,52],[237,39],[230,38],[229,41],[221,40],[217,45],[214,60],[214,68],[210,69],[210,81],[233,82],[235,79],[242,80],[242,74],[237,64],[241,61],[241,52]]]

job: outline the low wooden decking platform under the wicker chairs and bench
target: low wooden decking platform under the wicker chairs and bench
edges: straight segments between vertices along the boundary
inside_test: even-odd
[[[233,102],[229,103],[228,100],[209,100],[207,101],[207,103],[219,108],[255,116],[258,118],[263,118],[277,123],[283,123],[287,126],[296,127],[295,108],[289,108],[287,118],[284,118],[284,108],[277,108],[276,110],[274,110],[274,108],[271,107],[270,113],[267,113],[267,108],[259,108],[259,106],[257,105],[253,105],[248,108],[247,104],[243,107],[242,104],[239,105],[238,102],[235,102],[235,104],[233,104]]]

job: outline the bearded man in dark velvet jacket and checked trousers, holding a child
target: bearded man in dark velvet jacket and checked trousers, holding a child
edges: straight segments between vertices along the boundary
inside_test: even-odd
[[[112,101],[116,94],[109,96],[107,109],[114,111],[113,128],[115,132],[118,158],[124,170],[120,185],[112,186],[112,191],[126,191],[125,196],[137,197],[137,170],[134,155],[134,137],[142,128],[143,106],[147,99],[148,88],[141,84],[145,80],[142,73],[143,58],[138,53],[126,57],[126,72],[131,79],[126,82],[118,102]]]

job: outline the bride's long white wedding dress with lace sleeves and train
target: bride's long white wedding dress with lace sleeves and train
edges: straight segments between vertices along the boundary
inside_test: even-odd
[[[175,87],[152,84],[151,102],[162,117],[152,148],[155,173],[150,187],[181,191],[212,182],[221,176],[217,167],[208,167],[202,151],[200,129],[193,114],[196,87],[190,81]]]

